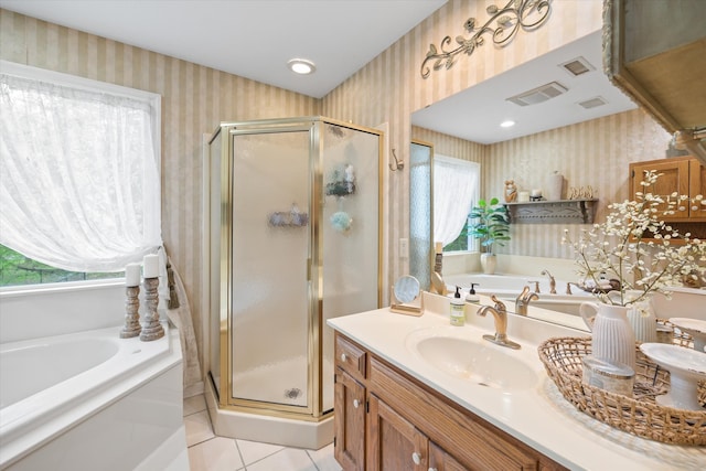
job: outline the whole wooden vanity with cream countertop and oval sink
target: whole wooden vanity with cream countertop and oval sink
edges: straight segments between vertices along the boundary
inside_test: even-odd
[[[335,330],[335,458],[344,470],[673,470],[706,462],[703,448],[612,429],[560,396],[537,345],[586,332],[511,315],[509,338],[522,345],[513,351],[482,340],[493,320],[472,307],[464,327],[449,325],[441,312],[379,309],[328,321]]]

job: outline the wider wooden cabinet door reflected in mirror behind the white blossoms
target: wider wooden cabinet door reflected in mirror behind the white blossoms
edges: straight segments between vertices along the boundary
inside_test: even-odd
[[[671,197],[671,194],[674,192],[680,195],[688,195],[688,159],[664,159],[652,162],[635,162],[630,164],[630,188],[633,196],[638,192],[645,192],[645,188],[642,186],[641,183],[644,180],[644,172],[648,170],[655,170],[657,173],[661,173],[655,185],[649,190],[652,194],[660,195],[665,201]],[[675,213],[673,215],[664,217],[665,221],[688,218],[688,205],[680,204],[677,206],[680,207],[674,208]],[[666,206],[659,207],[661,211],[665,208]]]

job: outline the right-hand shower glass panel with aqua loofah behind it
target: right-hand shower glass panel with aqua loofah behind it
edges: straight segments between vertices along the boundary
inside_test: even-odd
[[[378,304],[379,137],[323,132],[323,410],[333,409],[333,330],[325,320]]]

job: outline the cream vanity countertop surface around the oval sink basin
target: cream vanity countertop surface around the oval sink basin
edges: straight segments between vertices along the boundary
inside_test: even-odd
[[[438,301],[438,300],[437,300]],[[435,302],[437,302],[435,301]],[[425,306],[429,306],[426,302]],[[421,317],[383,308],[331,319],[328,324],[409,375],[443,394],[469,411],[569,469],[586,470],[703,470],[706,447],[680,447],[645,440],[611,428],[578,411],[565,400],[539,361],[537,346],[552,336],[584,336],[586,332],[511,315],[507,335],[522,349],[499,345],[504,353],[537,374],[533,388],[500,390],[448,375],[413,354],[406,346],[413,331],[446,329],[453,335],[480,339],[494,333],[491,315],[468,314],[467,325],[450,327],[448,315],[427,309]]]

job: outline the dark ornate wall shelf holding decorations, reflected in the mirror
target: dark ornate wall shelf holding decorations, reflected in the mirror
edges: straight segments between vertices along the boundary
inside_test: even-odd
[[[598,199],[505,203],[512,224],[592,224]]]

